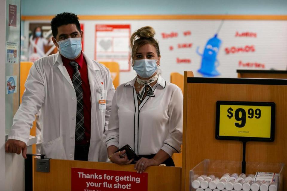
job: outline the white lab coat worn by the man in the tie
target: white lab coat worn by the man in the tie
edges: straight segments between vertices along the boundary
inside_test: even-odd
[[[104,132],[109,124],[115,87],[109,69],[83,54],[91,88],[91,141],[88,161],[107,161]],[[99,109],[99,88],[106,92],[106,109]],[[77,96],[59,53],[35,61],[25,83],[22,104],[13,119],[8,139],[27,144],[35,114],[41,109],[42,154],[74,160]]]

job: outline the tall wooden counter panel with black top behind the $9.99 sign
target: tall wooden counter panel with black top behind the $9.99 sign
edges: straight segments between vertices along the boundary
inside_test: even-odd
[[[189,172],[204,159],[242,161],[240,141],[215,138],[216,101],[274,102],[275,141],[247,142],[246,161],[287,164],[286,93],[285,79],[188,78],[185,72],[182,191],[190,190]]]

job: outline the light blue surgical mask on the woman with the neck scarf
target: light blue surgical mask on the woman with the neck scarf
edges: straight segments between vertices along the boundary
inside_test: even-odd
[[[151,59],[135,60],[133,69],[142,78],[149,78],[158,69],[158,65],[156,64],[157,61],[158,60]]]

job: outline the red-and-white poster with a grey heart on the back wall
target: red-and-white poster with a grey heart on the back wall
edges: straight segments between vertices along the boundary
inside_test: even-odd
[[[96,24],[95,31],[95,60],[117,62],[120,71],[130,71],[130,25]]]

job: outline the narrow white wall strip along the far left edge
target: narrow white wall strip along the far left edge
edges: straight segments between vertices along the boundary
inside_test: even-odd
[[[5,21],[6,0],[0,1],[0,190],[5,188]]]

